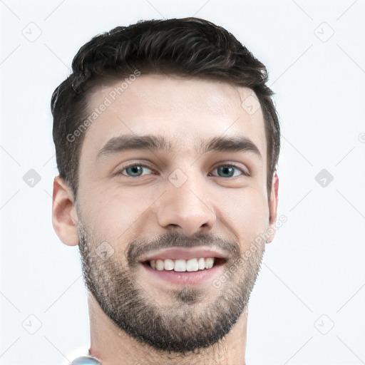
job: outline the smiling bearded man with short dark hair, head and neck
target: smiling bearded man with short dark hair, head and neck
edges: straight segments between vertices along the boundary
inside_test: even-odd
[[[245,364],[247,304],[277,219],[264,65],[215,24],[98,35],[53,93],[53,227],[78,245],[90,356]]]

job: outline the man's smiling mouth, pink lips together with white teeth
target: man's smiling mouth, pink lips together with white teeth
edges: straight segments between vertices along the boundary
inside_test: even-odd
[[[227,258],[212,250],[169,249],[140,261],[148,277],[173,284],[200,284],[220,274]]]

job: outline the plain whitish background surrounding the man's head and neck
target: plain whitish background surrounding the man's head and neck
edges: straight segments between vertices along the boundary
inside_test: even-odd
[[[67,364],[89,344],[78,250],[51,225],[51,93],[92,36],[193,15],[267,66],[282,125],[287,222],[252,292],[247,364],[365,364],[364,0],[0,0],[0,11],[0,364]]]

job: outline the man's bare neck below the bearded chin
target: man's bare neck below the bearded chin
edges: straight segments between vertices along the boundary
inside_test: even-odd
[[[247,308],[224,339],[205,349],[182,355],[154,349],[116,327],[92,294],[88,297],[88,307],[91,331],[89,351],[103,365],[246,364]]]

